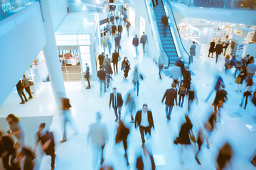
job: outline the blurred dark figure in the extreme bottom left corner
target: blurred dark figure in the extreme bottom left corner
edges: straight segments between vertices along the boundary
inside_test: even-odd
[[[10,156],[15,154],[14,140],[4,135],[4,132],[0,131],[0,158],[2,159],[4,169],[11,169],[9,164]],[[12,164],[12,162],[11,162]]]

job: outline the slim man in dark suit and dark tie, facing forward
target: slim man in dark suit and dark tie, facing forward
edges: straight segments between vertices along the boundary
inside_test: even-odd
[[[122,104],[123,104],[123,99],[122,95],[117,93],[117,88],[113,88],[113,92],[110,94],[110,106],[112,102],[112,107],[114,108],[114,114],[116,116],[116,122],[117,120],[121,118],[121,110],[122,110]],[[117,109],[118,109],[118,115],[117,115]]]

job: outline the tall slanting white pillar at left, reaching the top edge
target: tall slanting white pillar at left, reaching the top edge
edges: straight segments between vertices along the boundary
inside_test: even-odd
[[[47,43],[46,46],[43,48],[43,53],[46,58],[46,64],[49,72],[50,84],[53,89],[53,95],[57,103],[57,107],[61,108],[60,98],[65,97],[66,94],[60,60],[58,57],[57,45],[55,41],[49,1],[53,0],[41,0],[41,11],[43,21],[46,27],[47,37]]]

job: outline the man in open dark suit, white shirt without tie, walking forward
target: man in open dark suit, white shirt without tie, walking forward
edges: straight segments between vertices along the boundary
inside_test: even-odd
[[[151,111],[148,111],[148,106],[146,104],[142,106],[142,111],[136,113],[134,125],[135,128],[139,126],[139,132],[142,137],[142,147],[144,147],[144,132],[145,134],[149,133],[149,135],[151,135],[151,128],[154,128],[153,115]]]

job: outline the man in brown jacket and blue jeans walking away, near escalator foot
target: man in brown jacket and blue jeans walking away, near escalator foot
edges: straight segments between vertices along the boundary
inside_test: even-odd
[[[171,111],[174,108],[174,99],[176,101],[176,106],[177,106],[177,91],[174,89],[176,87],[176,84],[173,83],[171,84],[171,89],[167,89],[164,97],[162,99],[162,103],[164,102],[164,98],[166,98],[166,118],[168,120],[171,120]],[[169,109],[169,111],[168,111]]]

